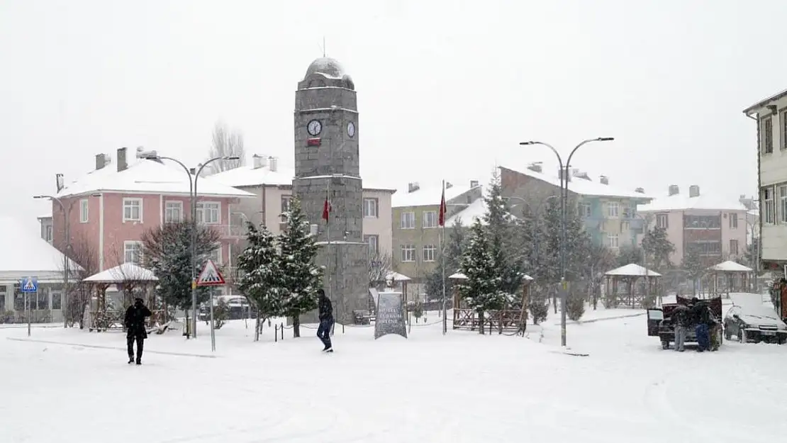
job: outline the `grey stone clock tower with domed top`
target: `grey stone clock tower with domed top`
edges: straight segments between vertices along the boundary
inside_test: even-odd
[[[294,122],[293,194],[317,227],[317,263],[325,268],[324,289],[334,318],[349,323],[353,311],[369,308],[368,245],[363,241],[355,84],[338,61],[322,57],[309,65],[297,83]],[[303,321],[316,321],[316,312]]]

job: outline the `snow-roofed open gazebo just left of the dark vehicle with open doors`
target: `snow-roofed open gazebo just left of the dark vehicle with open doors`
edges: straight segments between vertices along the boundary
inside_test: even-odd
[[[630,308],[644,308],[648,303],[648,296],[655,297],[658,290],[661,274],[643,268],[639,264],[630,263],[620,268],[615,268],[604,274],[604,299],[608,307],[617,307],[623,302]],[[644,283],[644,290],[639,291],[639,283]],[[623,286],[623,291],[621,291]]]

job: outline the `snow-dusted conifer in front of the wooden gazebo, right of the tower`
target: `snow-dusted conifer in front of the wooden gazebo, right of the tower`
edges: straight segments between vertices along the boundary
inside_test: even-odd
[[[475,220],[470,228],[467,246],[460,260],[460,269],[466,280],[459,283],[459,293],[470,308],[478,312],[481,326],[479,334],[484,333],[484,312],[501,309],[512,301],[512,295],[500,290],[502,272],[496,268],[486,228],[480,220]]]

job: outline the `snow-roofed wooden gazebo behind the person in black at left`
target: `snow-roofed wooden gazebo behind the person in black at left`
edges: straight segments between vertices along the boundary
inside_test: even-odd
[[[90,308],[85,310],[88,315],[87,330],[122,328],[125,309],[138,297],[145,300],[146,305],[153,312],[150,323],[161,321],[164,310],[157,309],[153,293],[157,281],[158,278],[153,271],[133,263],[119,264],[83,279],[83,284],[90,284],[95,289],[95,303],[91,301]],[[123,293],[122,306],[107,305],[106,291],[113,285]]]

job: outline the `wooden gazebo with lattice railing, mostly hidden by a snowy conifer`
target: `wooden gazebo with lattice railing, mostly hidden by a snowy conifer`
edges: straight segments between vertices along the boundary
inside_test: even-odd
[[[467,275],[461,272],[449,275],[449,279],[454,282],[467,280]],[[533,280],[530,275],[525,275],[522,285],[522,298],[520,305],[515,309],[499,309],[484,312],[483,325],[491,331],[497,330],[498,334],[503,334],[504,330],[522,331],[527,327],[527,297],[530,282]],[[475,309],[468,308],[459,293],[459,285],[453,285],[453,329],[475,330],[481,326],[481,319]]]

